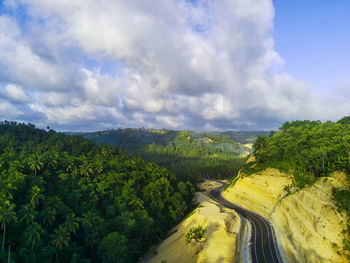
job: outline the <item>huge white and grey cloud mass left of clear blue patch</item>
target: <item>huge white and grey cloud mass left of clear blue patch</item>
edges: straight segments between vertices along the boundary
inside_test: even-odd
[[[31,110],[53,124],[260,129],[349,110],[271,73],[283,64],[271,0],[8,1],[18,5],[27,24],[0,16],[0,81],[34,93]]]

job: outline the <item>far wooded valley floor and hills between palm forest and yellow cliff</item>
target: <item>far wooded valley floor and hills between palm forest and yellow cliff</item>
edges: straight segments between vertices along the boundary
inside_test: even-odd
[[[126,149],[192,182],[235,176],[245,161],[240,157],[250,151],[228,135],[195,131],[118,129],[80,135]]]

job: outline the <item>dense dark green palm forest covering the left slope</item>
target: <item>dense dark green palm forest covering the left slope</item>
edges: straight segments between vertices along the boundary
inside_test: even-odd
[[[7,121],[0,176],[2,262],[137,262],[194,194],[113,146]]]

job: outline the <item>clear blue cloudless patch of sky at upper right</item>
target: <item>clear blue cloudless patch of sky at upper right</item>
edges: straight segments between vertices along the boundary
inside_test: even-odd
[[[333,93],[350,84],[350,1],[274,0],[275,48],[284,70]]]

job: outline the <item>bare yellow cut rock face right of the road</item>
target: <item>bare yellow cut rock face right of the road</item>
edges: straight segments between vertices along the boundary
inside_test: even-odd
[[[267,169],[241,175],[224,196],[274,223],[289,262],[348,262],[336,249],[342,247],[346,217],[332,200],[332,188],[344,186],[345,175],[334,173],[287,195],[284,187],[291,182],[291,176]]]

